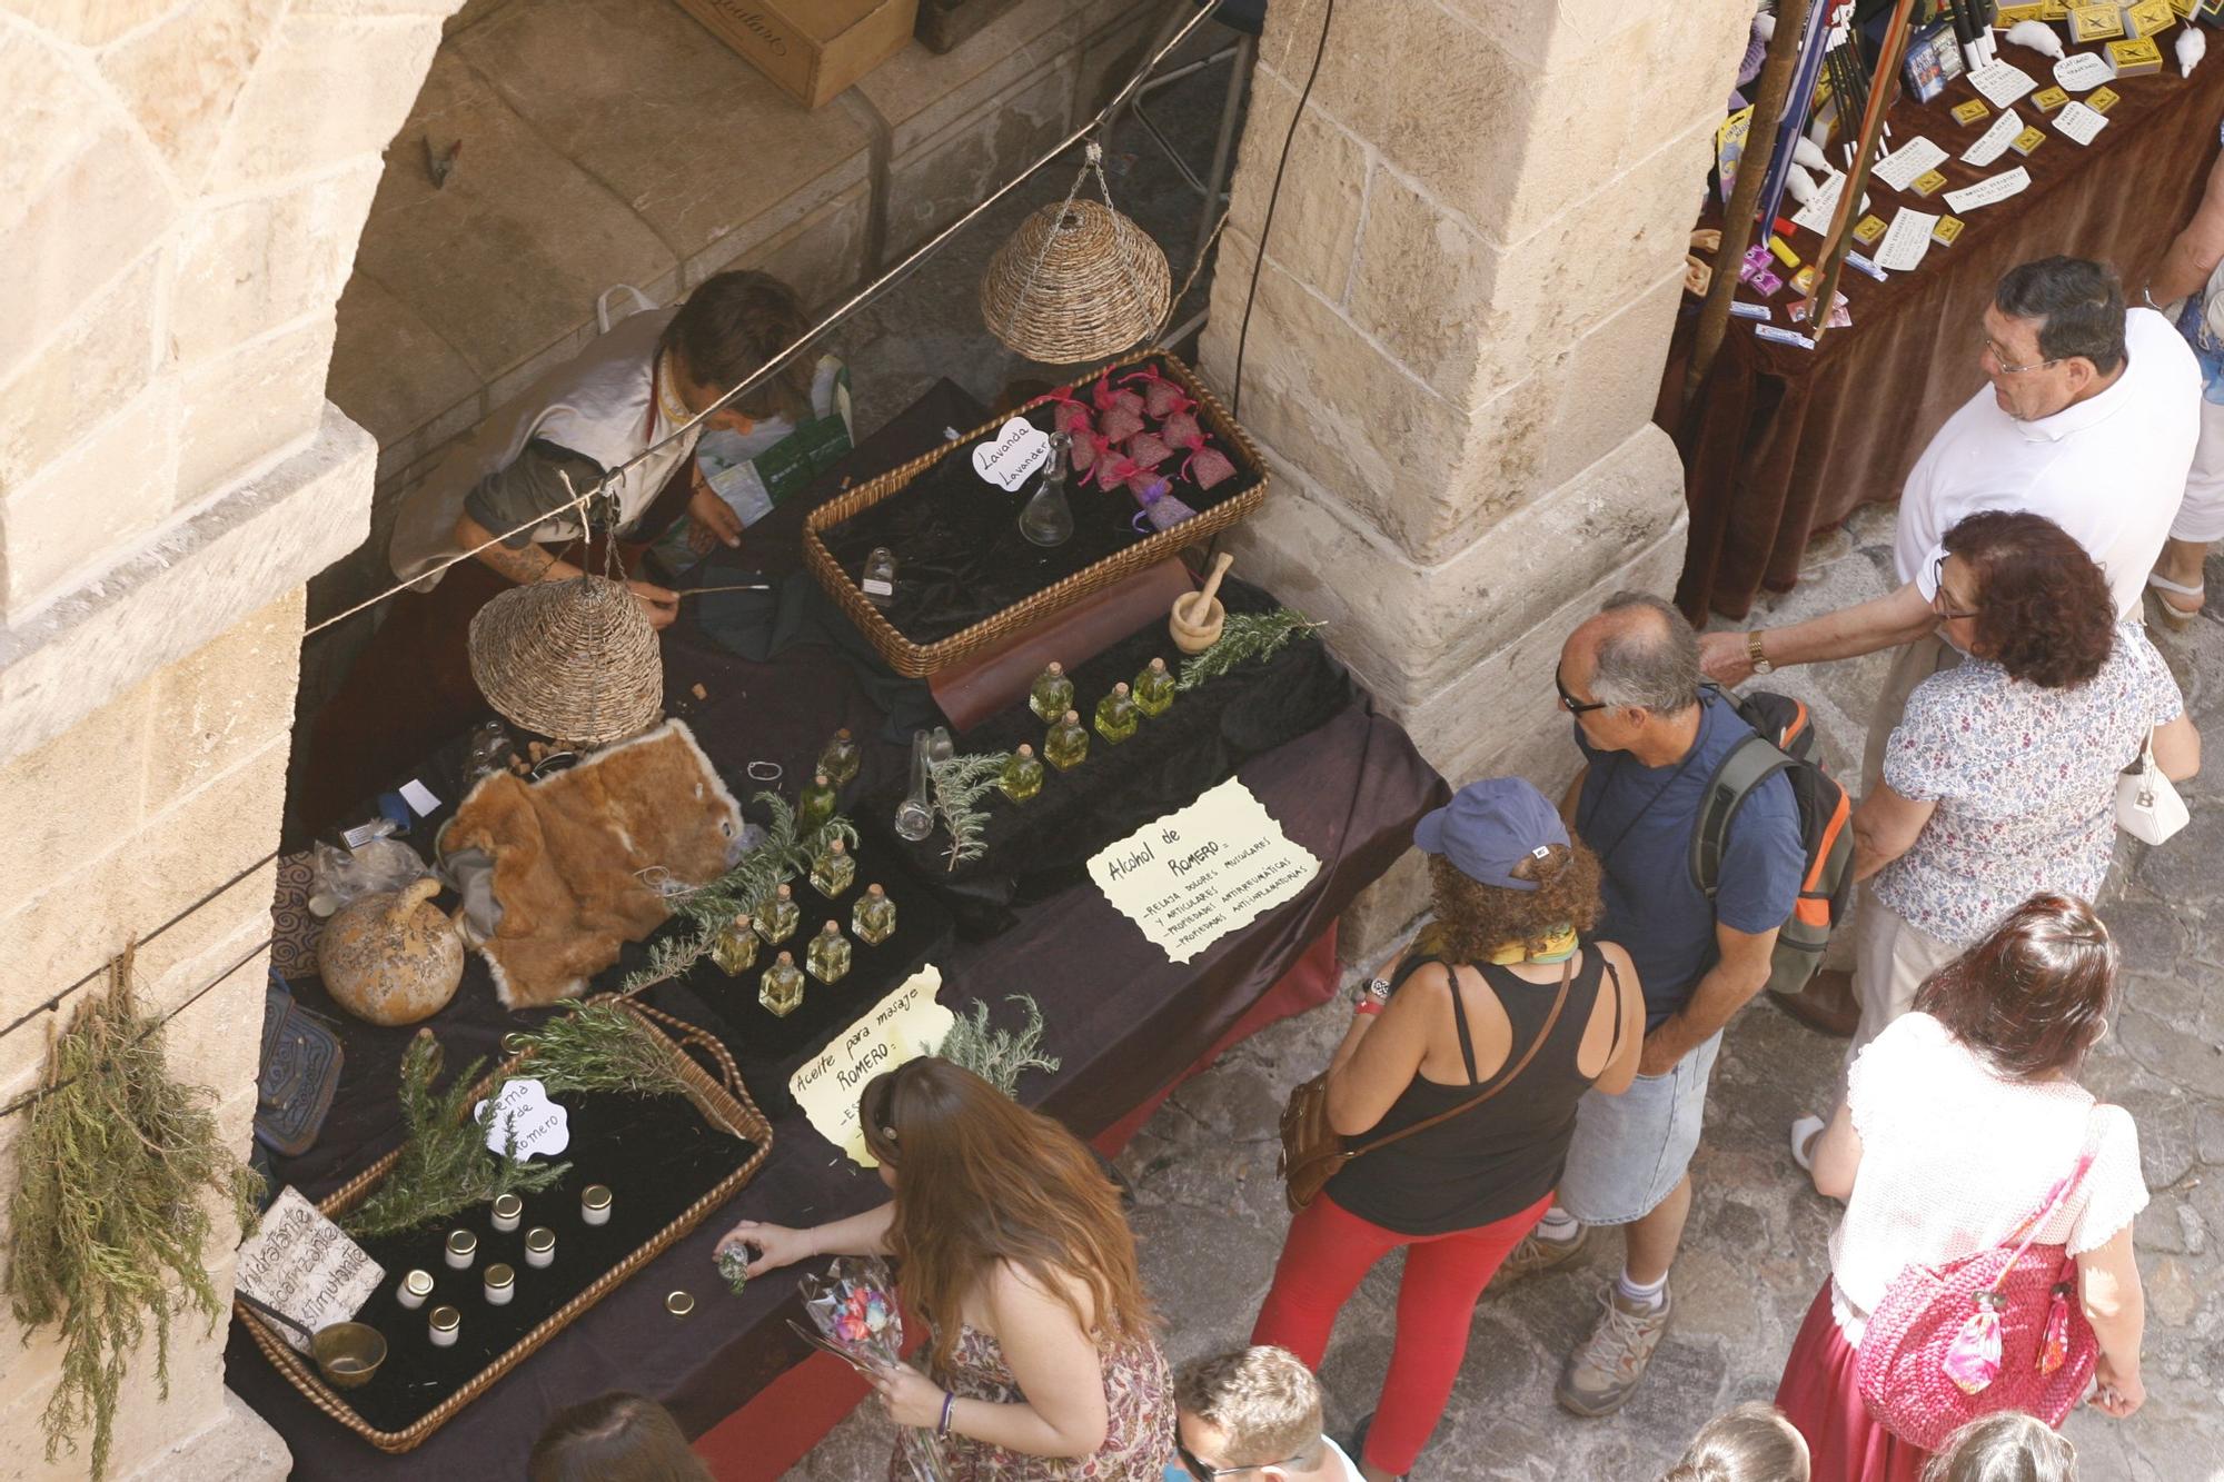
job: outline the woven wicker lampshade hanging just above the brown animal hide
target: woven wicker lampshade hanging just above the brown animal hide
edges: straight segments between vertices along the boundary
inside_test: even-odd
[[[471,679],[503,719],[558,741],[620,741],[665,712],[656,630],[625,583],[536,581],[471,619]]]

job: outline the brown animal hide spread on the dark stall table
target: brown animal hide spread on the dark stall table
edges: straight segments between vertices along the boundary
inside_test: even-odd
[[[669,915],[645,881],[701,886],[741,843],[741,803],[683,721],[567,772],[489,772],[440,830],[440,852],[494,859],[500,919],[480,955],[505,1008],[578,995]]]

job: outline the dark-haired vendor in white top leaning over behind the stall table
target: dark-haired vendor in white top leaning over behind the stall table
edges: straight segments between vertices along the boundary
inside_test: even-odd
[[[411,590],[383,605],[318,714],[296,826],[338,819],[483,710],[465,650],[471,614],[514,583],[600,570],[567,505],[612,470],[625,470],[612,494],[627,585],[649,623],[672,623],[674,574],[738,545],[747,523],[850,447],[847,372],[832,356],[796,356],[674,436],[807,327],[778,278],[716,274],[678,309],[618,320],[463,438],[396,512],[387,561]]]

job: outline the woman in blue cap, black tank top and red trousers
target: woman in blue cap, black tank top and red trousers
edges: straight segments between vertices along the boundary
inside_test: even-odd
[[[1321,1364],[1343,1300],[1406,1246],[1381,1406],[1352,1451],[1403,1475],[1443,1415],[1475,1302],[1552,1204],[1575,1104],[1628,1090],[1646,1037],[1630,955],[1583,943],[1599,861],[1512,777],[1470,783],[1412,832],[1437,921],[1357,992],[1328,1064],[1328,1119],[1359,1148],[1290,1222],[1254,1344]],[[1497,1086],[1503,1095],[1368,1150]]]

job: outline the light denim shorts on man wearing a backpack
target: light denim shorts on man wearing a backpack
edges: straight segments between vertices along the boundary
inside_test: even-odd
[[[1668,1075],[1639,1075],[1619,1097],[1592,1090],[1575,1106],[1575,1142],[1552,1199],[1583,1224],[1630,1224],[1650,1215],[1684,1179],[1699,1150],[1706,1084],[1721,1030]]]

